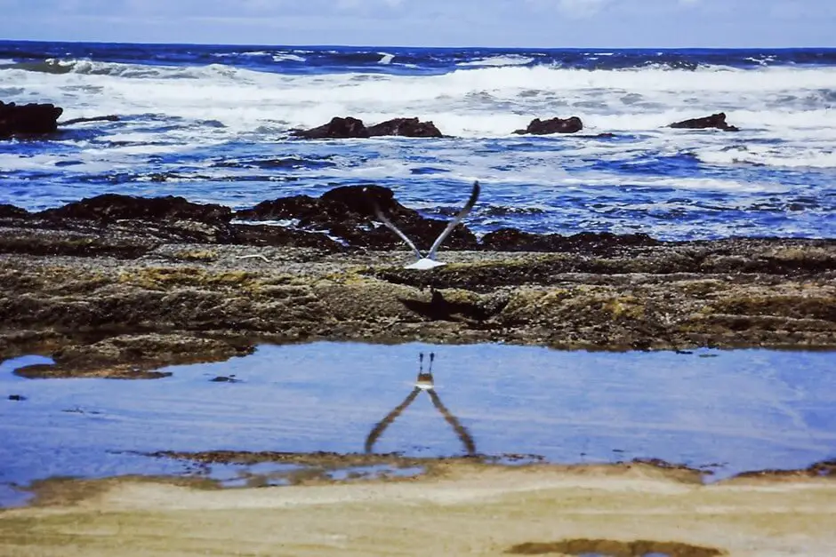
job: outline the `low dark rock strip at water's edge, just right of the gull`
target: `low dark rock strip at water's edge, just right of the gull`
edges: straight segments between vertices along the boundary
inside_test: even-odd
[[[532,234],[517,228],[500,228],[486,234],[481,246],[491,251],[571,251],[605,253],[624,246],[655,246],[659,241],[645,234],[615,235],[582,232],[571,236]]]

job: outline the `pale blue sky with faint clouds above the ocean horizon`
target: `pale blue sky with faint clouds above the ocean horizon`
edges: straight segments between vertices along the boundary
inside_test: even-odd
[[[0,0],[0,39],[836,47],[836,0]]]

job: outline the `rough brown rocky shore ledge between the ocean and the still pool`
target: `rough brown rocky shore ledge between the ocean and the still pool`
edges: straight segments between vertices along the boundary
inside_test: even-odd
[[[421,247],[445,221],[374,195]],[[155,378],[158,368],[311,340],[567,349],[836,348],[836,240],[477,239],[429,272],[352,188],[247,211],[102,195],[0,206],[0,358],[27,377]],[[263,224],[293,219],[296,228]]]

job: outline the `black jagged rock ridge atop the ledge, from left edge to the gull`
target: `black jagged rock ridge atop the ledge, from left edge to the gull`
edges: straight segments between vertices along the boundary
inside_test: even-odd
[[[364,191],[365,190],[365,191]],[[90,241],[69,239],[66,245],[40,245],[29,238],[20,245],[6,246],[13,252],[32,255],[102,255],[96,239],[108,234],[125,237],[125,243],[109,246],[109,255],[136,257],[159,242],[296,246],[323,251],[388,250],[401,240],[375,224],[374,198],[422,249],[428,249],[447,225],[446,219],[429,219],[398,203],[392,190],[379,186],[336,187],[320,197],[293,195],[265,201],[253,208],[232,211],[214,203],[192,203],[183,197],[139,197],[104,194],[68,203],[54,209],[29,212],[0,203],[0,227],[36,230],[67,229],[72,235],[88,235]],[[288,220],[293,226],[275,226],[267,221]],[[141,235],[136,243],[128,238]],[[476,250],[478,240],[470,229],[459,225],[445,247]],[[4,246],[0,243],[0,252]]]

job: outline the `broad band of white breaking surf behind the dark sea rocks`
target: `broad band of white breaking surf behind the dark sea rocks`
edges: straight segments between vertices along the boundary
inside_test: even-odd
[[[836,138],[836,69],[684,71],[479,68],[442,76],[287,76],[212,64],[168,68],[63,60],[66,74],[0,72],[0,87],[76,111],[216,119],[230,132],[265,120],[314,126],[334,115],[418,115],[443,131],[503,136],[535,116],[580,115],[598,131],[655,130],[724,110],[731,123]],[[362,78],[360,78],[362,77]],[[79,93],[79,91],[84,93]],[[832,123],[830,123],[832,122]],[[792,130],[792,131],[788,131]]]

